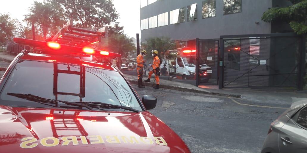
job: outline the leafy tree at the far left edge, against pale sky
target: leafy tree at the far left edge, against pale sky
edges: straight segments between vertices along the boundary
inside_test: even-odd
[[[0,14],[0,44],[14,37],[15,23],[10,14]]]

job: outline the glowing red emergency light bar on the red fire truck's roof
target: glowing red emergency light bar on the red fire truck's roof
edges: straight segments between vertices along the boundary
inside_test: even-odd
[[[32,40],[32,39],[25,39],[25,38],[14,38],[14,42],[19,43],[21,45],[28,45],[33,47],[40,47],[45,50],[52,49],[55,54],[85,54],[85,55],[94,55],[96,57],[103,56],[103,57],[121,57],[121,54],[118,53],[112,53],[104,50],[94,50],[91,48],[81,48],[81,47],[75,47],[75,46],[68,46],[68,45],[62,45],[56,42],[44,42],[44,41],[38,41],[38,40]],[[50,53],[50,52],[48,52]]]

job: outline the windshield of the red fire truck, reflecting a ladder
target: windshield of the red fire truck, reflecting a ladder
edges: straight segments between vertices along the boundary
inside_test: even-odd
[[[19,61],[0,98],[11,106],[49,107],[7,93],[31,94],[68,102],[100,102],[142,111],[134,93],[119,72],[83,65]]]

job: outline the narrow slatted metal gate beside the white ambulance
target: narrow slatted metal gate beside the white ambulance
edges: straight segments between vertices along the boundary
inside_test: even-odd
[[[199,39],[199,85],[218,85],[219,39]]]

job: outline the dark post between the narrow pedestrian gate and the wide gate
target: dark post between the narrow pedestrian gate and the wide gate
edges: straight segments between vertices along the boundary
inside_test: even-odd
[[[219,46],[219,89],[223,89],[224,86],[224,41],[222,38],[220,38],[220,46]]]

